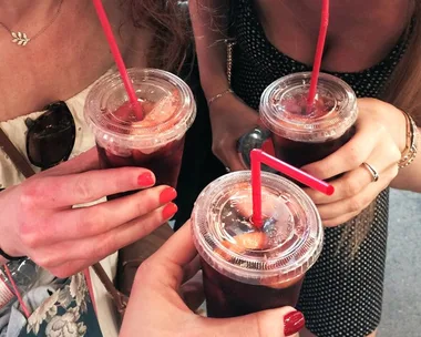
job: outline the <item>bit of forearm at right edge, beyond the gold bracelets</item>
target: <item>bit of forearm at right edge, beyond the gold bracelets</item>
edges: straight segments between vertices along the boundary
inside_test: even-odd
[[[398,176],[391,183],[391,187],[421,193],[421,127],[418,127],[418,130],[419,153],[409,166],[399,171]]]

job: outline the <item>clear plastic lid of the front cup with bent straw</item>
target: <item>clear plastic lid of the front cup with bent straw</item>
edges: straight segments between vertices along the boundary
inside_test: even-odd
[[[194,242],[207,264],[247,284],[276,287],[302,276],[317,261],[324,229],[311,200],[294,183],[263,173],[261,229],[250,222],[250,172],[224,175],[193,210]]]

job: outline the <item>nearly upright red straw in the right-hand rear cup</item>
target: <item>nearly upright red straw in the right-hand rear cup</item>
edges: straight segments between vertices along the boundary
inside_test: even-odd
[[[308,92],[308,98],[307,98],[307,112],[310,112],[312,105],[315,104],[317,82],[319,81],[321,58],[324,55],[328,25],[329,25],[329,0],[322,0],[319,39],[317,41],[315,62],[312,64],[310,90]]]

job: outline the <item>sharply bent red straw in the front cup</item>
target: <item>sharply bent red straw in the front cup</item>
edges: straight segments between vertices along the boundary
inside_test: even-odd
[[[251,150],[251,191],[253,191],[253,224],[260,228],[261,217],[261,163],[279,171],[280,173],[327,195],[332,195],[332,185],[320,181],[308,173],[294,167],[278,159],[263,152],[259,149]]]

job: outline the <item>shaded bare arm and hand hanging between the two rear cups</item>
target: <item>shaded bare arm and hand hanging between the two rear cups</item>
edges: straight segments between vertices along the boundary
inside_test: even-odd
[[[235,0],[230,0],[235,1]],[[232,171],[244,170],[237,141],[258,124],[258,114],[235,94],[228,93],[226,74],[228,0],[192,0],[189,11],[195,33],[201,83],[207,100],[222,94],[209,105],[212,149]]]

